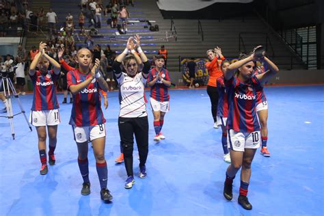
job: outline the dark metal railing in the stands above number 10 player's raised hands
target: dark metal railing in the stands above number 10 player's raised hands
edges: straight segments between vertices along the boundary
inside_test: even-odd
[[[245,46],[245,42],[243,39],[243,36],[255,36],[255,35],[262,35],[265,38],[264,43],[265,44],[260,44],[262,46],[265,46],[265,51],[267,51],[268,55],[271,54],[272,57],[275,56],[275,52],[271,43],[271,40],[268,36],[268,33],[265,32],[240,32],[239,33],[239,52],[243,52],[243,53],[248,53],[249,51],[247,51],[246,46]],[[259,45],[259,44],[255,44],[255,45]],[[243,48],[243,49],[242,49]],[[252,48],[252,47],[251,47]],[[269,51],[269,49],[271,49],[271,52]]]

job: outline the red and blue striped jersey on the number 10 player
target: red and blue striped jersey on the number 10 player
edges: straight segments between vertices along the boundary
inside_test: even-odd
[[[256,89],[261,83],[253,76],[246,83],[237,77],[226,81],[228,92],[228,124],[227,129],[243,133],[260,131],[256,116]]]

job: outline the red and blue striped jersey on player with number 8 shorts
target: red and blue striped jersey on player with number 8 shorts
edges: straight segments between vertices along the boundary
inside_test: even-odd
[[[91,75],[84,75],[78,69],[70,70],[67,75],[68,87],[78,85],[87,80]],[[96,79],[87,85],[81,92],[73,94],[73,105],[69,124],[74,126],[95,126],[105,123],[101,110],[99,85]]]

